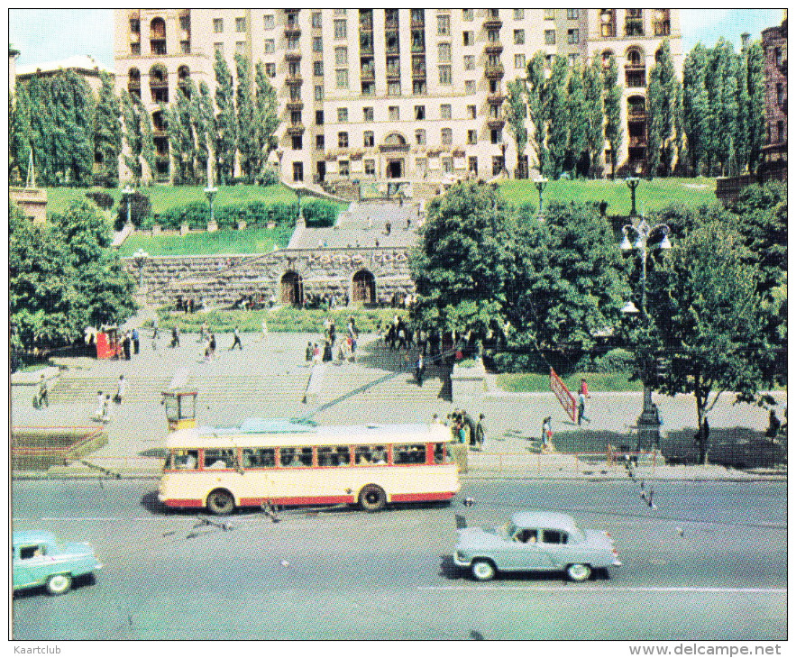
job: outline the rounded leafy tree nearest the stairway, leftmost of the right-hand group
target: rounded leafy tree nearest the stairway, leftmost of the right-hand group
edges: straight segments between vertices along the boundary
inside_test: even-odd
[[[410,257],[419,321],[486,335],[510,304],[516,231],[495,187],[461,183],[435,197]]]

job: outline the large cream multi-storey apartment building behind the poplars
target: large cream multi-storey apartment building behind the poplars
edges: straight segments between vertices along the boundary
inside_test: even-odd
[[[265,65],[279,98],[283,180],[435,181],[504,167],[535,175],[530,148],[517,167],[502,105],[538,50],[571,66],[616,56],[618,167],[643,170],[646,85],[664,38],[682,75],[673,9],[117,9],[114,59],[118,89],[153,115],[155,178],[170,172],[159,104],[188,76],[213,89],[220,50],[232,71],[236,52]]]

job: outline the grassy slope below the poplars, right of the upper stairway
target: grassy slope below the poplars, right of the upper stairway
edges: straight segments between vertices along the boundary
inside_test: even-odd
[[[500,191],[515,206],[539,203],[532,180],[507,180]],[[645,213],[670,204],[700,206],[717,201],[716,178],[642,179],[636,188],[636,210]],[[630,214],[630,190],[624,180],[551,180],[544,188],[544,203],[549,201],[602,201],[608,215]]]

